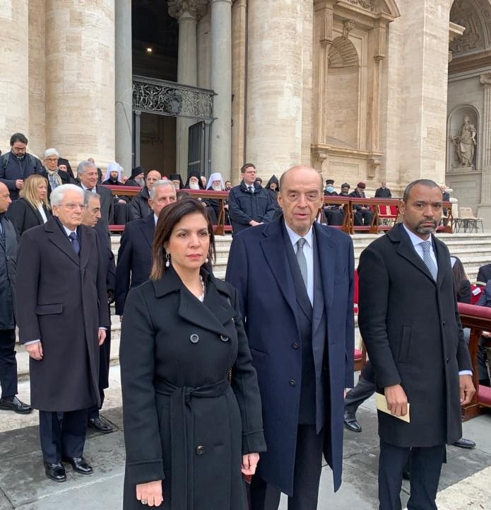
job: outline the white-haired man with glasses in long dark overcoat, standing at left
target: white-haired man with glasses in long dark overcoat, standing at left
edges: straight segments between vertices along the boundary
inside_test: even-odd
[[[83,446],[88,409],[100,403],[99,345],[109,315],[100,242],[81,225],[83,191],[61,185],[51,204],[53,216],[20,241],[17,310],[20,342],[30,356],[32,407],[40,410],[45,473],[63,482],[61,460],[78,473],[92,472]]]

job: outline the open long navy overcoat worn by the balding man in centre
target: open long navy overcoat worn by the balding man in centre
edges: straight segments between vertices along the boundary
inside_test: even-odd
[[[282,225],[278,219],[235,236],[226,279],[239,292],[261,390],[268,451],[261,455],[259,474],[292,494],[300,384],[289,381],[301,381],[302,360],[297,296]],[[327,317],[324,344],[314,348],[316,391],[326,393],[326,408],[316,411],[324,413],[324,456],[337,490],[343,464],[343,390],[353,386],[353,243],[335,228],[315,223],[314,231]]]

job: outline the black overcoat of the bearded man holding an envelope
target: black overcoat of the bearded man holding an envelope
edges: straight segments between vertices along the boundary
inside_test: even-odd
[[[459,370],[471,370],[446,245],[432,236],[434,281],[403,224],[362,253],[358,325],[379,388],[401,384],[410,424],[379,412],[379,435],[395,446],[437,446],[461,437]]]

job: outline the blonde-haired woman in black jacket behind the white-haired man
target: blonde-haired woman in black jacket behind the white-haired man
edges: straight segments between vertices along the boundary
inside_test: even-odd
[[[38,174],[29,175],[20,190],[18,200],[8,208],[8,216],[16,227],[19,236],[32,228],[45,224],[51,216],[51,207],[47,198],[48,181]]]

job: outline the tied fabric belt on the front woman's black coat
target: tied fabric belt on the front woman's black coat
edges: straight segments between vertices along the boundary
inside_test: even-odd
[[[230,390],[230,382],[228,379],[223,379],[218,381],[218,383],[199,386],[198,388],[174,386],[169,381],[165,381],[165,379],[156,379],[153,384],[156,393],[170,397],[172,508],[179,510],[192,509],[193,477],[191,470],[189,470],[188,461],[190,457],[189,446],[194,448],[194,427],[188,427],[187,407],[189,407],[192,414],[193,410],[189,405],[191,398],[216,398],[225,395]],[[201,448],[203,447],[201,446]]]

